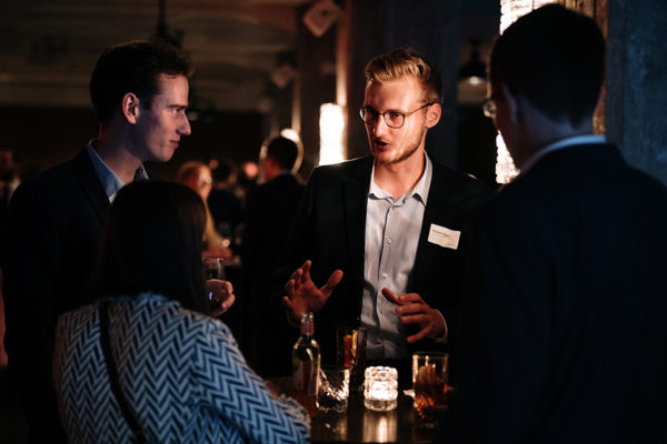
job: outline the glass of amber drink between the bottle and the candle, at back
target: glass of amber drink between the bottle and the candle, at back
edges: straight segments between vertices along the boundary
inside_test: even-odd
[[[339,326],[336,329],[336,364],[350,370],[352,391],[364,389],[366,370],[366,329],[362,326]]]

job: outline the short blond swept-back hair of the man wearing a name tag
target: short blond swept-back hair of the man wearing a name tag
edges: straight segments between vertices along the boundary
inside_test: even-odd
[[[371,59],[365,69],[366,83],[387,82],[412,75],[421,83],[425,103],[442,101],[442,79],[437,68],[412,48],[400,47]]]

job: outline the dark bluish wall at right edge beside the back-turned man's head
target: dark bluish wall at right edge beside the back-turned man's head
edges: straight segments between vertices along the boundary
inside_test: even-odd
[[[605,133],[667,184],[667,2],[609,1]]]

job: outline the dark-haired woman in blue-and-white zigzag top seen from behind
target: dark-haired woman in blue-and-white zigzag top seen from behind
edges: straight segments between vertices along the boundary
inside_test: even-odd
[[[229,329],[207,314],[205,226],[201,199],[176,183],[129,184],[111,205],[99,283],[120,396],[149,443],[308,442],[306,411],[271,394]],[[60,414],[72,443],[132,442],[102,352],[99,305],[58,321]]]

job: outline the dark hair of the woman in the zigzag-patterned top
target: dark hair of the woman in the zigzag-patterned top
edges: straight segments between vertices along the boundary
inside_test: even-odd
[[[98,269],[100,295],[157,293],[206,313],[205,228],[203,202],[188,186],[173,182],[123,186],[107,218]]]

